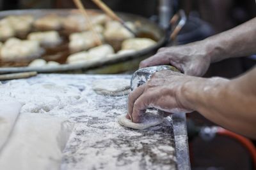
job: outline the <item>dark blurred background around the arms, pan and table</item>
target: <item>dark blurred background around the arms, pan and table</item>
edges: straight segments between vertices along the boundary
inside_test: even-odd
[[[163,18],[168,7],[172,16],[183,9],[189,20],[177,38],[177,45],[191,43],[226,31],[256,16],[255,0],[104,0],[115,11],[134,13],[154,22]],[[97,8],[92,1],[83,1],[86,8]],[[1,0],[1,10],[31,8],[74,8],[70,0]],[[169,16],[169,17],[171,17]],[[254,55],[227,59],[212,64],[205,74],[234,78],[256,63]],[[189,152],[192,169],[253,169],[252,155],[243,142],[228,135],[204,131],[214,125],[198,113],[188,115]],[[207,136],[208,134],[208,136]],[[253,141],[255,143],[255,141]]]

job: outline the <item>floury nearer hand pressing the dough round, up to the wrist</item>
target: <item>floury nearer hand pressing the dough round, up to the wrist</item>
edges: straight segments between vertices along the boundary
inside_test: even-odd
[[[189,113],[193,108],[189,106],[182,96],[183,85],[195,81],[197,77],[185,76],[174,71],[159,71],[154,73],[144,85],[134,89],[129,94],[128,115],[135,123],[147,108],[154,107],[168,113]]]

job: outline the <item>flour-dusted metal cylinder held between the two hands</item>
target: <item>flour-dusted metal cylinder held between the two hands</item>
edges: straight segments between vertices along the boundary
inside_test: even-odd
[[[177,68],[175,68],[173,66],[168,66],[168,65],[152,66],[152,67],[145,67],[145,68],[138,69],[132,75],[131,90],[134,90],[137,87],[139,87],[140,85],[145,84],[150,79],[152,74],[154,74],[158,71],[163,71],[163,70],[171,70],[171,71],[180,72]]]

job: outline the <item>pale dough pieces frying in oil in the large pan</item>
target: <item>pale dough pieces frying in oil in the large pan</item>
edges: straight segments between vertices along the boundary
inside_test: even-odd
[[[91,17],[95,30],[106,44],[96,46],[93,32],[88,31],[86,19],[80,14],[70,15],[67,18],[58,15],[46,15],[37,20],[30,15],[3,18],[0,20],[0,40],[5,42],[0,43],[0,59],[3,61],[36,59],[44,53],[42,46],[54,47],[62,43],[63,39],[61,39],[58,30],[63,28],[73,32],[68,38],[68,48],[72,53],[67,59],[68,64],[99,60],[102,57],[116,57],[156,44],[156,41],[152,39],[134,38],[134,35],[119,22],[110,20],[104,14],[92,15]],[[136,26],[132,22],[127,22],[127,25],[130,29],[136,30]],[[44,31],[29,33],[31,27]],[[15,38],[19,34],[27,34],[27,39]],[[121,50],[115,53],[116,49],[114,50],[111,45],[107,44],[109,41],[120,42]],[[29,65],[36,66],[35,63],[47,65],[47,62],[42,61],[42,59]],[[56,63],[54,64],[56,65]]]

